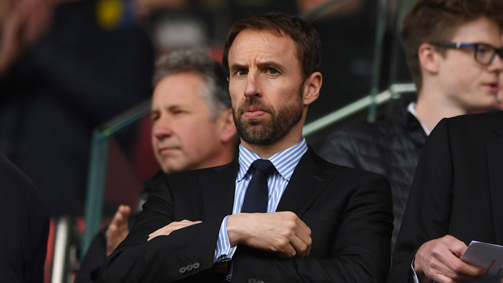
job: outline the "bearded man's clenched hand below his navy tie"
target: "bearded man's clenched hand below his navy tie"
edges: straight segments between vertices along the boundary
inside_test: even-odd
[[[294,212],[238,213],[227,218],[231,246],[271,250],[279,257],[307,257],[311,230]]]

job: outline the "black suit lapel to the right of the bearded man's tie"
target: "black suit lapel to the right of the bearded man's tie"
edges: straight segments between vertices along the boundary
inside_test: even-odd
[[[295,168],[276,211],[292,211],[301,217],[333,179],[333,174],[324,171],[316,158],[319,157],[309,147]]]

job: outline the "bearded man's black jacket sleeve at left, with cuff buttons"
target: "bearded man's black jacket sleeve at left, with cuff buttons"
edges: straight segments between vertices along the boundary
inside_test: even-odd
[[[143,205],[130,234],[107,259],[104,282],[174,282],[211,270],[222,219],[205,219],[147,241],[150,233],[172,221],[173,197],[168,188],[159,188]]]

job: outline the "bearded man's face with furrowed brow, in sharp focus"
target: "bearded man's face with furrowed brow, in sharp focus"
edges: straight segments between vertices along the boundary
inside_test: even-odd
[[[288,36],[242,30],[229,50],[229,92],[238,134],[246,143],[270,145],[301,127],[303,77]]]

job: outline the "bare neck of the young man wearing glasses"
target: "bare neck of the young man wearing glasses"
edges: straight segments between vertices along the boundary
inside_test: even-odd
[[[426,89],[421,89],[418,93],[415,110],[417,118],[430,131],[443,118],[469,113],[468,109],[460,107],[443,93]]]

